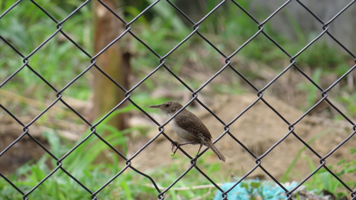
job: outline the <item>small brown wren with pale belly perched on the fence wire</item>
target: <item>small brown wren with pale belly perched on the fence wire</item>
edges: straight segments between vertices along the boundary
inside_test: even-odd
[[[150,107],[157,107],[163,110],[166,113],[168,118],[171,118],[179,109],[183,106],[180,105],[177,101],[167,101],[160,105],[154,105]],[[187,109],[182,110],[176,117],[174,117],[170,122],[172,129],[185,143],[177,143],[177,148],[174,150],[174,144],[172,143],[172,152],[173,155],[176,153],[178,147],[185,144],[200,144],[199,151],[203,145],[208,146],[213,150],[213,152],[219,157],[220,160],[225,162],[225,157],[221,154],[218,149],[211,142],[211,134],[204,125],[204,123],[195,116],[192,112]],[[172,156],[173,156],[172,155]]]

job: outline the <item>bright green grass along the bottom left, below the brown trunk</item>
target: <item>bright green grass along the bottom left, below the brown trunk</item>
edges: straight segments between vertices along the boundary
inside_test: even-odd
[[[101,130],[103,127],[98,127]],[[87,132],[87,134],[90,131]],[[86,135],[86,134],[85,134]],[[50,144],[50,151],[61,157],[64,153],[69,151],[73,144],[63,143],[54,133],[47,132],[45,137]],[[106,138],[112,145],[125,141],[125,134],[115,135]],[[106,153],[111,160],[108,163],[96,163],[95,159],[100,152],[110,150],[106,144],[99,141],[95,136],[92,136],[88,141],[74,150],[67,158],[63,160],[63,167],[77,178],[81,183],[87,186],[91,191],[95,191],[112,178],[116,173],[120,172],[125,167],[123,159],[119,158],[115,153]],[[204,164],[204,160],[199,163],[200,168],[205,173],[216,173],[221,170],[220,164]],[[12,175],[6,175],[17,187],[25,193],[33,188],[39,181],[41,181],[47,174],[49,174],[56,167],[56,160],[45,154],[36,162],[29,162],[18,168]],[[154,174],[156,183],[165,189],[182,173],[181,165],[172,163],[171,165],[161,166],[160,168],[148,170],[145,173],[148,175]],[[224,181],[219,179],[219,181]],[[214,192],[209,196],[206,194],[209,188],[193,189],[193,185],[211,184],[209,180],[205,179],[194,168],[188,172],[187,176],[179,180],[178,183],[169,190],[165,195],[182,199],[202,196],[203,199],[212,199]],[[183,190],[176,190],[174,188],[184,188]],[[191,188],[191,189],[189,189]],[[161,188],[161,190],[163,190]],[[17,192],[10,184],[2,179],[0,182],[0,190],[4,191],[0,194],[0,199],[20,199],[21,194]],[[146,177],[136,173],[130,168],[126,169],[119,175],[112,183],[106,186],[98,193],[98,198],[104,199],[157,199],[158,192],[152,187],[152,183]],[[36,199],[82,199],[90,198],[90,194],[78,185],[73,179],[59,169],[44,183],[42,183],[36,190],[30,194],[30,198]]]

